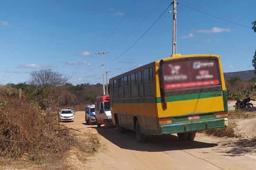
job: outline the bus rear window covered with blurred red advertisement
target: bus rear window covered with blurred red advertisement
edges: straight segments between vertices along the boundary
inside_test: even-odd
[[[163,63],[165,89],[211,86],[220,83],[217,60],[202,58]]]

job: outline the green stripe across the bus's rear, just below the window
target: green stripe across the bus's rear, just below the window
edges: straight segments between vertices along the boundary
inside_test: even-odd
[[[193,99],[203,99],[203,98],[219,97],[219,96],[222,96],[222,91],[200,92],[200,93],[194,93],[194,94],[168,96],[167,97],[167,102],[182,101],[182,100],[193,100]],[[158,97],[156,99],[156,102],[161,103],[161,98]]]

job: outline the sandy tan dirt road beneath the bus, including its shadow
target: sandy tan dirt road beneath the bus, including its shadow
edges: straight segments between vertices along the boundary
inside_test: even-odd
[[[194,141],[178,141],[175,135],[163,135],[151,137],[147,143],[138,143],[134,132],[120,134],[103,125],[101,128],[86,125],[84,112],[76,112],[75,121],[65,124],[82,132],[98,134],[103,145],[84,161],[73,158],[75,169],[256,169],[256,141],[251,139],[215,138],[199,133]]]

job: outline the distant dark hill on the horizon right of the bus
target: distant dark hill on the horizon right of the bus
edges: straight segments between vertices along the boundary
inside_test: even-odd
[[[253,77],[256,77],[253,70],[237,71],[237,72],[228,72],[224,73],[225,80],[229,80],[232,77],[239,77],[242,80],[250,80]]]

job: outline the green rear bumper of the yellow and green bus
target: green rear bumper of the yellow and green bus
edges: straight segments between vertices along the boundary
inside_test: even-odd
[[[161,134],[184,133],[204,129],[224,128],[228,125],[228,118],[214,118],[208,120],[195,120],[182,123],[160,124]]]

